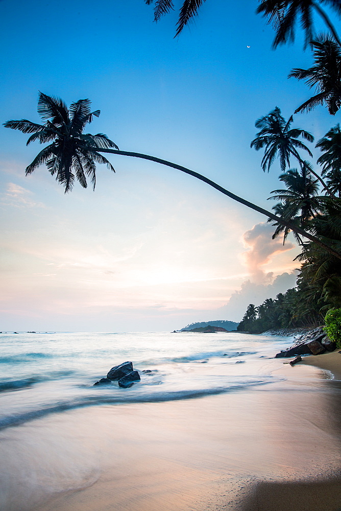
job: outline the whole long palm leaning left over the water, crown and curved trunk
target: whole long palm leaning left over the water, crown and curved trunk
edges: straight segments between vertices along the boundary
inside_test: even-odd
[[[75,175],[72,171],[76,172],[76,177],[79,179],[83,187],[86,186],[85,174],[90,175],[93,186],[95,185],[95,165],[94,162],[105,163],[111,170],[114,170],[110,162],[104,158],[99,152],[120,154],[123,156],[132,156],[135,158],[147,159],[155,161],[161,165],[180,170],[185,174],[189,174],[205,183],[209,184],[212,188],[227,195],[240,204],[265,215],[275,222],[280,222],[289,227],[290,229],[298,232],[302,236],[320,244],[326,250],[331,251],[335,257],[341,259],[341,252],[338,253],[333,250],[328,244],[321,242],[318,238],[306,233],[305,230],[297,227],[284,218],[277,217],[270,211],[264,210],[262,207],[249,202],[229,190],[216,184],[207,177],[186,169],[181,165],[172,163],[171,161],[163,160],[149,154],[135,153],[130,151],[120,151],[116,144],[114,144],[103,133],[97,135],[82,134],[82,130],[87,123],[92,121],[93,115],[99,116],[100,111],[90,112],[90,101],[79,100],[77,103],[72,103],[68,110],[62,100],[46,96],[40,92],[38,101],[38,112],[42,118],[46,120],[44,125],[35,124],[26,119],[21,121],[7,121],[4,126],[6,128],[18,129],[23,133],[33,133],[28,140],[28,144],[33,140],[38,140],[40,144],[54,141],[49,146],[45,147],[38,156],[33,160],[32,164],[27,167],[26,174],[33,172],[38,166],[46,164],[47,170],[52,175],[57,174],[57,180],[65,185],[65,192],[72,188]],[[81,112],[83,112],[81,114]],[[51,120],[50,120],[51,119]],[[74,121],[75,119],[75,121]],[[112,149],[115,147],[116,149]]]

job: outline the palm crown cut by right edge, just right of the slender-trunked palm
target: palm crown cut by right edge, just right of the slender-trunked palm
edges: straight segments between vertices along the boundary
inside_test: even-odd
[[[336,124],[325,134],[316,144],[324,153],[318,159],[318,164],[322,165],[323,176],[328,179],[328,186],[341,197],[341,129]]]

